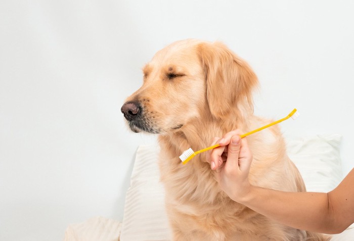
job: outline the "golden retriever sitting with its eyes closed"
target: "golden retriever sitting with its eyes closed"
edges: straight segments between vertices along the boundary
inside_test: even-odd
[[[250,66],[221,42],[176,41],[143,68],[144,83],[121,112],[134,132],[158,134],[159,168],[172,239],[329,240],[275,222],[231,200],[209,165],[209,152],[182,165],[179,156],[210,146],[213,137],[244,133],[272,122],[253,114],[258,80]],[[249,181],[284,191],[305,191],[286,154],[279,127],[247,137],[253,153]]]

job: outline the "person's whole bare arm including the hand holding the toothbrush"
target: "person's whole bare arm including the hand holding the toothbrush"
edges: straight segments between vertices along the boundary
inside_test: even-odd
[[[239,131],[227,133],[211,152],[211,167],[231,199],[288,226],[339,233],[354,222],[354,169],[332,191],[284,192],[250,185],[252,154]],[[234,143],[233,143],[234,142]]]

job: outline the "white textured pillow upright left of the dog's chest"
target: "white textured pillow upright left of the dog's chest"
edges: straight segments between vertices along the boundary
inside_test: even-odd
[[[130,179],[120,241],[171,240],[159,182],[158,147],[140,146]]]

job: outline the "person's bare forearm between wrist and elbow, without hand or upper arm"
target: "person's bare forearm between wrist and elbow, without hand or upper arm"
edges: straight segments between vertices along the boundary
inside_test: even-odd
[[[239,203],[298,229],[333,233],[328,195],[318,192],[283,192],[251,186]]]

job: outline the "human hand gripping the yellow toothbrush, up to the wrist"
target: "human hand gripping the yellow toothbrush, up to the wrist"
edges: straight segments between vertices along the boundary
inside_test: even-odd
[[[248,173],[253,159],[246,137],[240,135],[240,130],[233,130],[221,139],[215,137],[213,144],[219,143],[220,147],[210,154],[210,166],[216,171],[220,187],[236,202],[242,201],[251,188]]]

